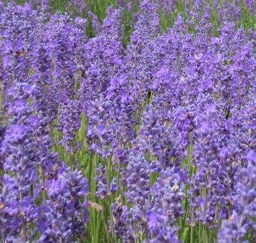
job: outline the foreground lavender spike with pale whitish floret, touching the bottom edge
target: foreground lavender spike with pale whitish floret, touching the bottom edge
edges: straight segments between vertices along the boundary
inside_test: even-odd
[[[148,229],[152,235],[151,242],[180,242],[177,237],[179,228],[177,219],[184,214],[184,181],[186,175],[174,168],[161,171],[161,177],[155,182],[152,191],[151,207],[147,212]],[[184,180],[185,179],[185,180]]]

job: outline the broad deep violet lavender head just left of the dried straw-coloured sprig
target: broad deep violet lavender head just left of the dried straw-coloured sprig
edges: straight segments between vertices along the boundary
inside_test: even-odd
[[[49,200],[44,200],[38,230],[39,242],[69,242],[84,239],[88,223],[88,181],[78,170],[66,169],[47,182]]]

